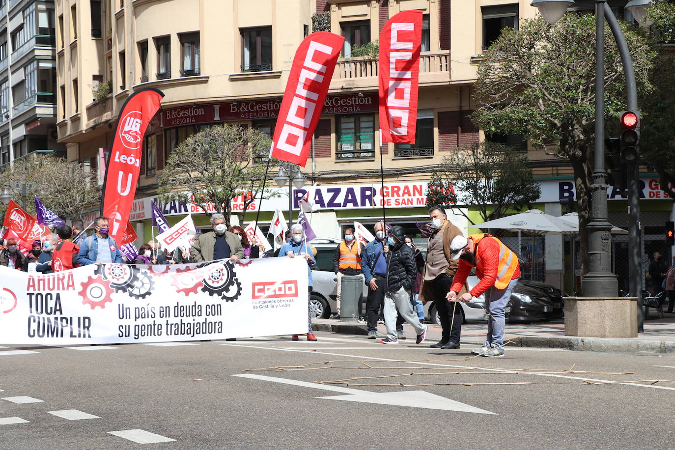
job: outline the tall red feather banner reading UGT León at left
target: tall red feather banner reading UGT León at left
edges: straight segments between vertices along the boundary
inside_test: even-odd
[[[110,219],[110,235],[117,244],[126,230],[136,195],[143,135],[163,97],[161,90],[155,88],[137,90],[124,102],[119,113],[101,200],[101,215]]]

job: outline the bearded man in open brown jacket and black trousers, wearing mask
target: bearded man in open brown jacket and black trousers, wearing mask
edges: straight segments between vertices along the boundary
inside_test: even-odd
[[[430,347],[459,348],[462,311],[458,306],[451,306],[448,300],[445,300],[445,296],[450,292],[452,279],[459,262],[451,258],[450,243],[456,236],[461,236],[462,231],[448,221],[445,210],[441,206],[431,206],[429,217],[431,217],[431,225],[435,231],[429,236],[427,262],[419,299],[423,303],[436,302],[436,309],[441,320],[441,329],[443,329],[441,341]]]

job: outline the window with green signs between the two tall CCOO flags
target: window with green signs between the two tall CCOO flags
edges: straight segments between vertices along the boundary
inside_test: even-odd
[[[335,159],[375,158],[375,116],[338,116],[338,150]]]

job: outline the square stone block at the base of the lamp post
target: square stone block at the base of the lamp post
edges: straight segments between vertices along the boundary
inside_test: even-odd
[[[565,335],[637,337],[637,298],[565,297]]]

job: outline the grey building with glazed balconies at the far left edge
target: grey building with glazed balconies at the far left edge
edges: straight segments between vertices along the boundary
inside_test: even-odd
[[[0,170],[65,150],[56,132],[54,2],[0,1]]]

